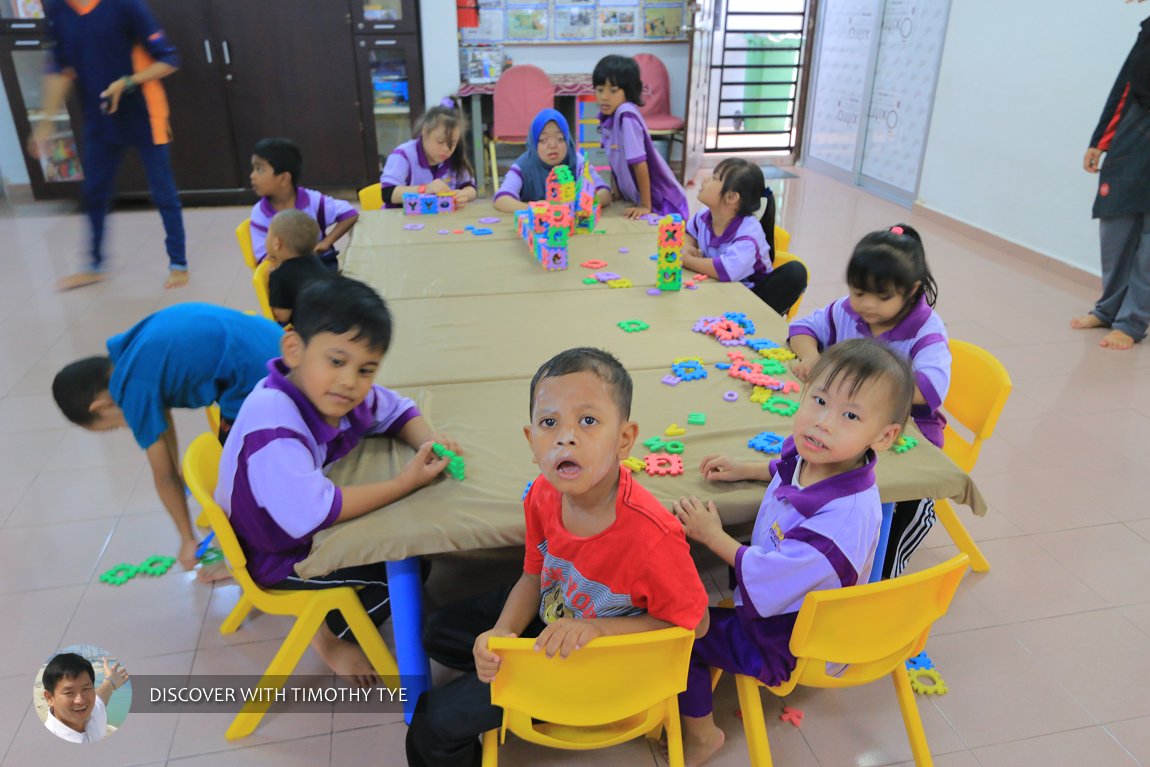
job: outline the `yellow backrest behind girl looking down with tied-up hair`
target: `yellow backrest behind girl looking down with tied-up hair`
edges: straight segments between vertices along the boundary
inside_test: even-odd
[[[967,442],[948,424],[942,450],[958,468],[969,471],[979,460],[982,440],[994,434],[1013,384],[1003,363],[980,346],[951,338],[950,355],[950,391],[942,406],[971,430],[974,442]]]

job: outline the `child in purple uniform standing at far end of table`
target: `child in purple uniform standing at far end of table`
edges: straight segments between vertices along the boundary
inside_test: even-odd
[[[599,138],[607,151],[614,198],[635,206],[624,215],[638,218],[650,213],[677,213],[685,221],[687,193],[654,148],[639,114],[643,82],[638,63],[628,56],[604,56],[595,66],[591,83],[599,100]]]

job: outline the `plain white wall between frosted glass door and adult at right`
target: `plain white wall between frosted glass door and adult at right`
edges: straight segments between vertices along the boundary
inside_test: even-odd
[[[1098,274],[1082,155],[1147,6],[957,0],[920,202]]]

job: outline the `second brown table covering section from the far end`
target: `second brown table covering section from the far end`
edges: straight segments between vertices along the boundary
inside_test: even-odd
[[[457,236],[459,237],[459,236]],[[344,274],[377,286],[389,301],[442,296],[491,296],[557,291],[618,290],[589,287],[583,278],[595,271],[613,271],[629,278],[636,289],[654,286],[657,231],[632,235],[580,235],[568,247],[568,268],[545,271],[522,240],[468,239],[450,245],[444,237],[411,246],[355,245],[347,252]],[[438,245],[438,247],[437,247]],[[628,248],[620,253],[619,248]],[[601,269],[578,264],[605,261]],[[690,275],[690,273],[687,273]]]

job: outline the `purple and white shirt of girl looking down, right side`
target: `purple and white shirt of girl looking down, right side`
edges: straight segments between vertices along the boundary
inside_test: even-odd
[[[802,320],[791,323],[789,337],[812,336],[821,352],[849,338],[872,338],[871,327],[851,308],[850,297],[841,298]],[[940,412],[950,390],[950,346],[946,325],[930,308],[925,297],[919,297],[911,313],[897,325],[877,338],[911,362],[914,383],[926,405],[911,407],[911,416],[922,436],[942,447],[945,416]]]

